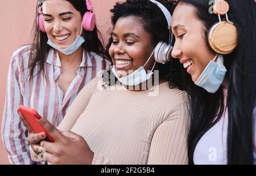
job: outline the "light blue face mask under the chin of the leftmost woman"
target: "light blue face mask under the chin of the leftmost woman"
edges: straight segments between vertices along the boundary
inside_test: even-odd
[[[77,36],[76,40],[73,41],[73,43],[69,45],[68,48],[66,49],[60,49],[58,46],[53,44],[53,42],[49,39],[49,37],[48,37],[47,44],[52,46],[52,48],[56,49],[57,51],[60,51],[60,53],[63,53],[65,55],[70,55],[75,53],[75,51],[79,49],[79,47],[85,42],[84,37],[82,37],[81,34],[82,34],[82,27],[81,27],[80,35]]]

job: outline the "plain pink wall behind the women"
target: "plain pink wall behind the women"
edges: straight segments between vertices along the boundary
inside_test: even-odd
[[[83,1],[83,0],[81,0]],[[85,0],[84,0],[85,1]],[[108,42],[110,12],[117,0],[91,0],[97,18],[97,27]],[[2,123],[5,102],[6,77],[11,54],[24,44],[31,42],[31,29],[34,22],[36,0],[0,1],[0,122]],[[1,129],[1,127],[0,127]],[[1,137],[2,138],[2,137]],[[0,140],[0,164],[9,164],[7,153]]]

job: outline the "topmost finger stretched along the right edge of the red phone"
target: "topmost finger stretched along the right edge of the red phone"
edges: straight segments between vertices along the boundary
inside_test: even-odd
[[[46,129],[49,135],[52,136],[54,140],[58,140],[64,137],[54,125],[52,125],[49,121],[47,121],[46,118],[42,117],[38,119],[38,121],[44,127],[44,129]]]

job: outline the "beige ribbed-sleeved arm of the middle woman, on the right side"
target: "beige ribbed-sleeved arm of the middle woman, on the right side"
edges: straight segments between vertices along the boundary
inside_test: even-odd
[[[155,131],[147,164],[188,164],[186,103],[176,105]]]

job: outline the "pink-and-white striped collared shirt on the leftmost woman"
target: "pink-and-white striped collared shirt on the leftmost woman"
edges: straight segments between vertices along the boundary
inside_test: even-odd
[[[11,57],[7,77],[5,108],[2,121],[2,140],[11,164],[32,164],[27,142],[27,130],[19,119],[17,109],[25,105],[36,109],[40,115],[57,126],[63,120],[69,106],[81,89],[90,80],[109,66],[109,61],[96,53],[84,51],[77,75],[65,95],[57,85],[61,75],[61,63],[57,51],[51,49],[47,55],[44,71],[29,81],[28,58],[31,45],[22,46]],[[39,67],[35,67],[38,71]]]

